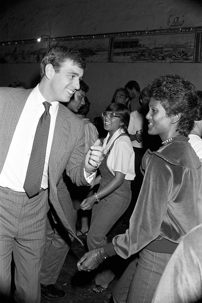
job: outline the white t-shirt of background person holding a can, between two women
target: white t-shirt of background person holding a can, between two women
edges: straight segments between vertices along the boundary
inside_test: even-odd
[[[140,114],[138,111],[131,112],[130,122],[128,125],[128,132],[131,135],[135,135],[136,131],[140,129],[143,130],[144,125],[144,116]],[[132,145],[134,147],[143,148],[143,142],[137,142],[137,140],[132,141]]]

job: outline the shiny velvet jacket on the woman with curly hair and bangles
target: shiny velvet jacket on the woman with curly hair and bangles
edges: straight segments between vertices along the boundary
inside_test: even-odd
[[[158,151],[146,151],[144,180],[129,229],[113,238],[113,246],[104,246],[109,256],[128,258],[162,238],[178,244],[197,225],[201,162],[188,140],[180,135]]]

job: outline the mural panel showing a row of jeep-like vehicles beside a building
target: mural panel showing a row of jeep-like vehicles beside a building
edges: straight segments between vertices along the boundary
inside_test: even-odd
[[[190,41],[190,38],[194,37],[187,35],[187,39],[184,39],[185,36],[181,39],[181,35],[181,37],[176,37],[177,40],[174,39],[174,35],[169,36],[171,41],[163,35],[158,37],[142,36],[142,39],[131,37],[115,39],[113,62],[191,62],[193,59],[194,42]]]

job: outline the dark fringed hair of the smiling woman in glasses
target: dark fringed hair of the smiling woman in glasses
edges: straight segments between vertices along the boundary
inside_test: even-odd
[[[108,105],[106,112],[113,112],[116,116],[120,116],[120,120],[123,123],[124,132],[128,135],[128,125],[130,121],[130,110],[127,106],[122,103],[114,102]]]

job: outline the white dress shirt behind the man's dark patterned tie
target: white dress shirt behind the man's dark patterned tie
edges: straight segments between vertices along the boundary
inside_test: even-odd
[[[43,105],[43,102],[45,101],[46,100],[41,95],[37,85],[29,95],[16,126],[8,155],[0,174],[0,186],[10,188],[14,191],[25,192],[23,185],[38,121],[45,111]],[[59,102],[51,102],[52,106],[50,106],[49,109],[51,123],[41,181],[41,188],[43,189],[48,188],[48,161],[58,112],[58,104]]]

